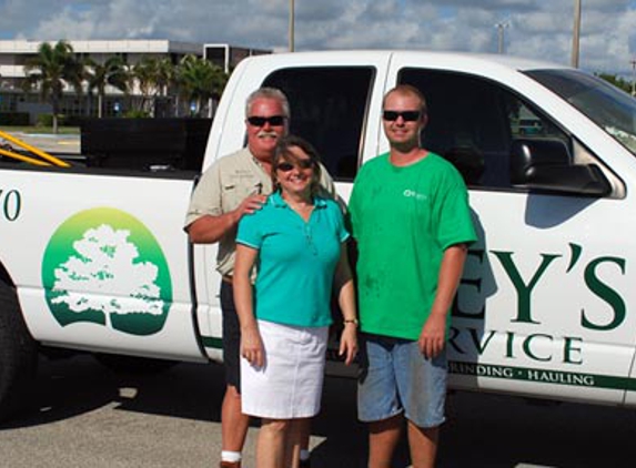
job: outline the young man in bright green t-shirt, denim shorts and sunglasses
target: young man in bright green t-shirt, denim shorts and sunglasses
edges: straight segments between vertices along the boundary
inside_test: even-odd
[[[434,467],[450,308],[476,235],[462,176],[421,146],[422,93],[394,88],[382,116],[390,152],[361,169],[350,201],[365,353],[359,416],[370,424],[370,468],[391,466],[404,418],[413,466]]]

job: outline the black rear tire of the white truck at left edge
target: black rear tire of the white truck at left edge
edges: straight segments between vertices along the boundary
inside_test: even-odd
[[[0,281],[0,420],[28,401],[38,365],[38,344],[31,337],[16,291]]]

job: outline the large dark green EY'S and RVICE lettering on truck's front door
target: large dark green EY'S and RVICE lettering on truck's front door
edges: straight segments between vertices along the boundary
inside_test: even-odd
[[[581,263],[582,284],[588,292],[604,303],[602,316],[589,313],[589,306],[572,305],[568,314],[573,325],[582,330],[609,332],[618,328],[625,323],[627,317],[627,306],[620,293],[609,284],[606,276],[608,273],[624,276],[626,273],[626,261],[616,256],[598,256],[583,262],[583,247],[578,244],[569,243],[569,252],[566,254],[541,253],[533,271],[522,274],[515,263],[513,252],[488,251],[493,255],[509,279],[512,291],[516,293],[516,308],[512,311],[508,329],[493,329],[487,326],[486,303],[482,301],[462,302],[464,309],[460,306],[461,296],[471,295],[477,292],[482,295],[482,277],[475,275],[475,271],[465,272],[461,282],[458,297],[453,306],[453,326],[448,337],[448,347],[457,356],[470,359],[481,357],[495,359],[516,359],[518,357],[528,358],[537,364],[558,362],[565,365],[581,366],[584,364],[584,338],[581,336],[556,336],[546,333],[549,326],[543,324],[533,313],[533,294],[541,288],[542,278],[546,272],[557,266],[564,267],[563,274],[573,274],[575,267]],[[472,250],[470,256],[476,260],[479,265],[486,262],[486,251]],[[565,262],[564,262],[565,261]],[[499,287],[506,287],[499,285]],[[472,311],[470,308],[473,308]],[[564,315],[563,311],[559,314]],[[462,321],[457,321],[457,319]],[[474,321],[475,326],[471,326]],[[515,324],[526,326],[524,333],[515,330]],[[499,324],[501,326],[501,324]],[[535,330],[533,330],[536,328]],[[534,375],[534,374],[533,374]],[[539,378],[534,379],[541,381]]]

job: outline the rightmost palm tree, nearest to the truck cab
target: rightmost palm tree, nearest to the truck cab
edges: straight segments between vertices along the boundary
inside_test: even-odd
[[[223,92],[228,74],[210,61],[189,54],[179,63],[178,83],[180,94],[194,103],[193,114],[201,115],[203,102],[219,99]]]

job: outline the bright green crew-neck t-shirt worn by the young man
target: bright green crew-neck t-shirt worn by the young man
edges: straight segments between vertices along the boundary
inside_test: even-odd
[[[403,167],[382,154],[360,170],[349,208],[359,248],[361,329],[417,339],[444,251],[476,241],[462,176],[434,153]]]

